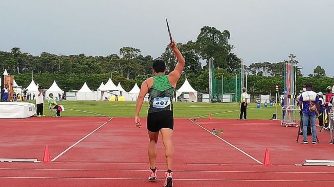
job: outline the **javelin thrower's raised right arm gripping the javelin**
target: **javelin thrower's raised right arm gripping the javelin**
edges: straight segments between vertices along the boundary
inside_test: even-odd
[[[186,61],[183,58],[183,56],[182,56],[181,52],[179,51],[179,49],[177,49],[175,41],[172,41],[170,43],[170,47],[172,48],[172,50],[174,52],[174,55],[177,58],[177,64],[176,64],[174,70],[171,73],[169,73],[168,80],[169,80],[170,84],[175,88],[177,81],[181,77],[183,68],[184,68],[184,66],[186,64]]]

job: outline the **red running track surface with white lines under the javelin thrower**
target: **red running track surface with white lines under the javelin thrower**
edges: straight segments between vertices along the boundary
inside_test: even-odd
[[[298,129],[278,122],[197,121],[175,120],[175,186],[333,186],[331,167],[294,166],[304,159],[332,159],[327,132],[319,134],[319,145],[301,145],[295,143]],[[49,145],[54,159],[0,163],[2,186],[163,186],[162,142],[160,180],[148,182],[147,130],[136,128],[132,118],[30,118],[0,120],[0,126],[1,158],[41,159]],[[221,139],[205,130],[212,128],[224,129]],[[265,148],[269,167],[258,163]]]

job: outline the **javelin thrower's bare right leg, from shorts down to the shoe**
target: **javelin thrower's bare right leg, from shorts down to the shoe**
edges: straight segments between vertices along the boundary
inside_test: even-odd
[[[172,159],[173,159],[173,154],[174,154],[174,147],[172,143],[173,130],[169,128],[162,128],[160,132],[162,135],[162,141],[165,146],[167,169],[172,170],[172,164],[173,164]]]

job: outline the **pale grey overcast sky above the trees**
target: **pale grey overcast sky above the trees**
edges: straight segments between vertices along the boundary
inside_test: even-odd
[[[157,58],[169,42],[165,17],[177,42],[203,26],[229,30],[246,65],[292,53],[305,76],[317,65],[334,76],[333,0],[0,0],[0,50],[106,56],[132,46]]]

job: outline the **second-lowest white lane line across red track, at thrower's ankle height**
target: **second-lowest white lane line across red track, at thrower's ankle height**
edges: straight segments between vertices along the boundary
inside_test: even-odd
[[[131,169],[48,169],[48,168],[0,168],[0,170],[36,170],[36,171],[118,171],[118,172],[147,172],[147,170]],[[217,170],[173,170],[175,172],[192,173],[294,173],[294,174],[334,174],[334,172],[291,172],[291,171],[217,171]]]

